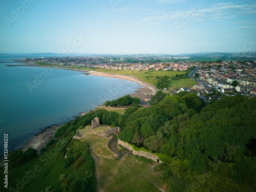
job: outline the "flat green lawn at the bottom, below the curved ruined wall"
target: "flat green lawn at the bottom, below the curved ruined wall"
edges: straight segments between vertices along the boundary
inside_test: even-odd
[[[104,191],[159,191],[153,184],[164,188],[160,182],[160,173],[151,170],[152,165],[141,163],[130,156],[121,160],[99,160],[101,187]]]

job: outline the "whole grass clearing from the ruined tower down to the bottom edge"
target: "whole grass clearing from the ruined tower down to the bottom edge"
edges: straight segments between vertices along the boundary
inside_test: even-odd
[[[81,141],[86,141],[94,146],[94,154],[98,158],[100,170],[100,183],[104,191],[159,191],[147,179],[163,188],[160,180],[160,173],[150,169],[152,164],[136,161],[133,155],[123,156],[120,160],[106,159],[102,156],[116,155],[109,149],[107,143],[112,137],[99,137],[101,130],[105,132],[108,126],[100,126],[93,130],[80,130]]]

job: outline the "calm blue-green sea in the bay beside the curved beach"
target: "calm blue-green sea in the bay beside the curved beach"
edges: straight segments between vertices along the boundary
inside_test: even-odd
[[[63,124],[141,87],[123,79],[13,62],[25,57],[0,55],[0,155],[5,134],[8,152],[17,150],[45,127]]]

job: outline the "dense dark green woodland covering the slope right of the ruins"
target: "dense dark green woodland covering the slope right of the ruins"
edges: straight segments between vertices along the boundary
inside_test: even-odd
[[[155,167],[169,191],[256,189],[256,98],[224,96],[205,106],[196,94],[158,92],[149,108],[133,104],[123,115],[101,109],[78,117],[57,130],[56,140],[96,116],[120,126],[119,139],[169,157]]]

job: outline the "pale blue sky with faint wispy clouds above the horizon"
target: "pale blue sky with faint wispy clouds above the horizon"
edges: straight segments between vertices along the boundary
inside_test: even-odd
[[[0,0],[0,53],[256,50],[256,2]]]

